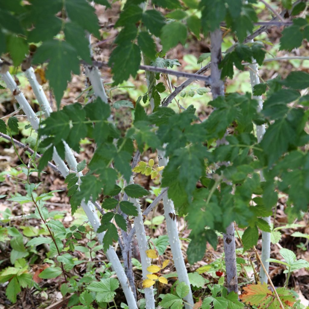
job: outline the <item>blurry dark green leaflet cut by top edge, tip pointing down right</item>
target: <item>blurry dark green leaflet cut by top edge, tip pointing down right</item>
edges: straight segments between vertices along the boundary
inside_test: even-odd
[[[68,17],[83,29],[100,37],[98,18],[95,9],[86,0],[66,0],[66,11]]]

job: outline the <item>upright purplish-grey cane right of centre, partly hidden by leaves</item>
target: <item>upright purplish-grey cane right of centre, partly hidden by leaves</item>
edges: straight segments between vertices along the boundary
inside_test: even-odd
[[[210,33],[211,40],[211,79],[212,87],[211,93],[213,99],[218,96],[224,95],[224,83],[221,80],[221,70],[218,65],[221,61],[221,44],[222,44],[222,32],[220,29],[216,29]],[[223,138],[224,139],[224,138]],[[224,141],[217,141],[217,146],[220,143],[226,143]],[[236,248],[235,248],[235,228],[234,222],[226,228],[226,232],[223,233],[224,242],[224,254],[225,254],[225,265],[226,265],[226,281],[228,292],[234,291],[238,294],[238,283],[237,283],[237,269],[236,269]]]

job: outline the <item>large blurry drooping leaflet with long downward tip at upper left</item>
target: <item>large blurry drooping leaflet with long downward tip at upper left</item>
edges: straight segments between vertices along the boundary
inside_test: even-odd
[[[71,80],[71,72],[79,74],[77,52],[65,41],[46,41],[37,49],[33,61],[43,63],[46,60],[49,60],[46,78],[53,88],[59,108],[63,92],[66,90],[68,81]]]

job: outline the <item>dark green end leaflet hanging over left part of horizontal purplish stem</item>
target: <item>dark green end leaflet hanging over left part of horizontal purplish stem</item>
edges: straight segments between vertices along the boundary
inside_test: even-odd
[[[121,61],[119,61],[121,59]],[[141,63],[141,52],[136,44],[125,42],[118,45],[109,58],[108,65],[112,67],[114,84],[129,79],[130,75],[136,76]]]

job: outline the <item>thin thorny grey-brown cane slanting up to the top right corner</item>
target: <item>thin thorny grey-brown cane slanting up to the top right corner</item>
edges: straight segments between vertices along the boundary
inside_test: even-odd
[[[304,2],[305,0],[298,0],[296,2],[293,3],[292,5],[292,9],[300,2]],[[291,10],[283,10],[280,13],[280,16],[284,16],[286,15],[287,12],[289,12]],[[248,43],[249,41],[253,40],[255,37],[259,36],[261,33],[267,31],[273,24],[272,22],[276,22],[277,21],[277,16],[274,17],[271,21],[269,21],[266,25],[260,27],[259,29],[257,29],[256,31],[252,32],[252,34],[248,35],[245,40],[243,41],[243,43]],[[231,46],[229,49],[227,49],[226,53],[231,52],[234,48],[235,48],[234,44],[233,46]],[[206,66],[202,67],[200,70],[198,70],[195,74],[204,74],[205,72],[207,72],[210,69],[211,64],[208,63]],[[163,100],[163,104],[162,106],[167,106],[168,104],[171,103],[171,101],[176,97],[176,95],[178,95],[185,87],[189,86],[191,83],[193,83],[196,80],[196,78],[188,78],[186,81],[184,81],[179,87],[175,87],[175,90],[167,97]]]

